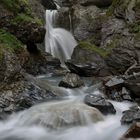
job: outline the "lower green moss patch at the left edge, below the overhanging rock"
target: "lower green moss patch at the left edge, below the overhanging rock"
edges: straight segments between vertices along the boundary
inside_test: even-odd
[[[16,51],[22,47],[22,43],[12,34],[0,29],[0,47]]]

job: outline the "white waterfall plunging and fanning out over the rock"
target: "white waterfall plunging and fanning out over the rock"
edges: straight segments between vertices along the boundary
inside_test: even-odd
[[[54,27],[57,14],[57,10],[46,10],[45,49],[64,66],[65,61],[71,58],[77,42],[69,31]]]

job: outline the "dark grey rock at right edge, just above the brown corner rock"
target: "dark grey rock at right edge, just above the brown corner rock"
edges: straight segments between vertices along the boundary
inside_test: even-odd
[[[139,107],[133,107],[130,110],[124,111],[121,118],[122,124],[131,124],[133,122],[140,122],[140,109]]]

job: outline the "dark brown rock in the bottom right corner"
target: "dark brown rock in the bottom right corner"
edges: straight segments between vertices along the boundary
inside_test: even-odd
[[[140,138],[140,123],[134,122],[123,136],[124,138]]]

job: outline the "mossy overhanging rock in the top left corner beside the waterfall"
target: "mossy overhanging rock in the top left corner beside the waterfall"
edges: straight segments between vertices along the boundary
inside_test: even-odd
[[[0,28],[9,31],[24,44],[28,41],[42,43],[45,36],[42,22],[44,11],[43,8],[40,8],[42,11],[36,8],[41,7],[41,4],[37,0],[16,0],[12,1],[11,5],[7,3],[2,0]]]

